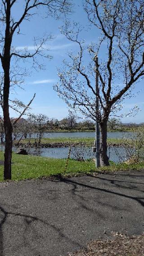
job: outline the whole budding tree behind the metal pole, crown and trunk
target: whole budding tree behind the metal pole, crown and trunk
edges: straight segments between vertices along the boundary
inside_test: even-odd
[[[76,42],[80,50],[77,55],[69,53],[71,62],[65,61],[64,68],[58,69],[60,82],[54,89],[69,107],[75,106],[86,117],[98,121],[101,165],[109,165],[108,118],[121,110],[121,102],[130,96],[133,87],[144,76],[144,1],[84,0],[84,9],[93,31],[95,28],[95,35],[99,29],[101,37],[96,36],[98,43],[86,48],[79,40],[81,31],[76,24],[71,27],[66,23],[62,27],[62,33],[68,40]],[[100,55],[102,46],[103,58]],[[99,56],[99,63],[96,56]],[[99,76],[97,91],[95,73]]]

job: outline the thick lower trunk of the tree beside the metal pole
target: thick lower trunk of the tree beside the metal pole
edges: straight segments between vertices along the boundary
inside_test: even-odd
[[[101,129],[101,143],[100,143],[100,165],[108,166],[108,156],[107,156],[107,120],[100,123]]]

